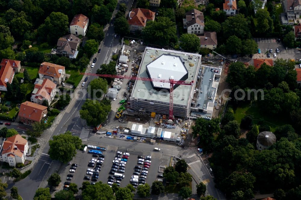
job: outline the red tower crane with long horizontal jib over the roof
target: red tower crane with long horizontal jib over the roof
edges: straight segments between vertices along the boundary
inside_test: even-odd
[[[172,120],[173,114],[173,86],[177,85],[192,85],[194,81],[185,82],[184,80],[173,80],[173,79],[158,79],[158,78],[147,78],[147,77],[136,77],[136,76],[123,76],[123,75],[110,75],[110,74],[92,74],[92,73],[80,73],[89,76],[98,76],[98,77],[107,77],[107,78],[120,78],[120,79],[129,79],[129,80],[144,80],[144,81],[154,81],[154,82],[162,82],[169,83],[169,119]]]

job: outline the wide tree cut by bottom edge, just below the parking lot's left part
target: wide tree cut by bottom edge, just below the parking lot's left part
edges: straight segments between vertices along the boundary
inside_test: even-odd
[[[112,188],[109,185],[97,182],[95,185],[88,185],[82,190],[83,200],[91,199],[111,199],[115,200]]]

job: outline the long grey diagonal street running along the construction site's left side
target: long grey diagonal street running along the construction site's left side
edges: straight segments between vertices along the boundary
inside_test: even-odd
[[[119,3],[125,3],[128,5],[128,8],[131,7],[133,0],[122,0],[119,1]],[[113,24],[113,21],[115,19],[115,14],[118,11],[118,6],[115,9],[113,13],[113,18],[111,19],[111,22],[108,25],[107,31],[105,32],[105,38],[101,42],[100,47],[101,53],[97,53],[97,61],[95,63],[94,68],[87,68],[87,72],[89,73],[95,73],[98,68],[100,68],[100,65],[103,63],[107,63],[110,59],[110,53],[114,48],[117,47],[119,44],[119,38],[114,39],[114,26],[110,25]],[[68,73],[68,72],[67,72]],[[87,133],[91,127],[86,126],[84,120],[81,120],[79,117],[79,110],[81,109],[83,103],[85,102],[84,98],[86,96],[86,90],[88,84],[91,80],[93,80],[96,77],[88,77],[88,81],[85,84],[84,87],[81,87],[78,90],[78,98],[73,98],[72,102],[70,102],[69,107],[67,107],[66,112],[61,118],[61,121],[58,123],[56,128],[54,129],[54,132],[51,133],[49,136],[49,139],[52,138],[53,135],[58,135],[60,133],[64,133],[66,131],[72,131],[77,132],[79,135],[82,135],[82,140],[87,140],[83,138],[88,138]],[[77,90],[76,90],[77,91]],[[44,133],[45,134],[45,133]],[[49,141],[49,140],[48,140]],[[17,183],[10,183],[8,188],[6,189],[6,192],[10,193],[10,188],[12,186],[16,186],[18,188],[19,195],[23,197],[23,199],[33,199],[36,190],[41,185],[42,181],[46,178],[47,172],[50,168],[56,168],[55,165],[57,165],[56,162],[52,161],[50,157],[47,155],[49,150],[48,141],[46,142],[42,150],[42,155],[40,155],[38,162],[36,163],[34,169],[32,170],[31,174],[29,174],[28,177],[25,179],[17,182]],[[55,163],[55,164],[54,164]]]

